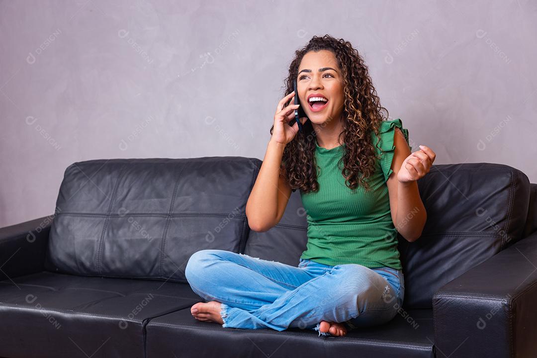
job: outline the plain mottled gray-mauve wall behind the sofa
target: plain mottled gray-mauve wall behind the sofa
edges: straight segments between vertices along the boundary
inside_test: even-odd
[[[327,4],[0,1],[0,227],[52,214],[79,160],[262,159],[294,50],[325,33],[414,150],[537,182],[537,2]]]

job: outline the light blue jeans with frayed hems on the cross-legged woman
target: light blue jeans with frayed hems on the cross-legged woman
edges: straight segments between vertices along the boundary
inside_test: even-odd
[[[349,329],[389,322],[403,304],[402,270],[336,266],[300,259],[298,267],[226,250],[200,250],[185,275],[206,301],[222,303],[222,327],[308,328],[322,320]]]

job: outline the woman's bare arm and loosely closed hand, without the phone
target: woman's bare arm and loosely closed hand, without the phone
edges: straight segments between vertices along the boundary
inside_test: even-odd
[[[434,152],[427,148],[432,158],[424,150],[414,153],[399,128],[395,128],[394,158],[391,163],[393,173],[387,181],[391,218],[397,231],[409,242],[421,235],[427,213],[419,196],[417,180],[429,172],[434,160]],[[400,173],[401,171],[401,173]]]

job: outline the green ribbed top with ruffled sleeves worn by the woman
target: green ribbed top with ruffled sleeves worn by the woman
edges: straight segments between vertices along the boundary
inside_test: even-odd
[[[332,149],[316,144],[319,191],[300,192],[308,220],[308,243],[301,258],[332,266],[360,264],[369,268],[402,269],[386,185],[392,172],[395,127],[401,129],[409,142],[408,130],[403,128],[401,119],[381,123],[379,147],[386,152],[381,154],[375,148],[381,160],[367,179],[371,186],[368,193],[362,186],[352,191],[345,185],[343,160],[338,163],[345,144]],[[371,133],[375,144],[375,133]]]

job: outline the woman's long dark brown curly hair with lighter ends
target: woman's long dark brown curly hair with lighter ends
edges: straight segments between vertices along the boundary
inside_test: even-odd
[[[358,185],[369,191],[367,178],[375,171],[376,156],[374,145],[378,147],[380,141],[380,125],[383,112],[388,119],[388,110],[380,105],[368,68],[358,51],[350,42],[335,39],[326,34],[322,37],[313,36],[302,49],[295,51],[295,58],[289,65],[288,77],[284,80],[285,94],[293,91],[293,81],[297,77],[302,57],[310,51],[331,51],[342,71],[344,84],[343,104],[343,135],[345,154],[343,155],[342,174],[346,185],[355,189]],[[303,132],[298,132],[284,149],[281,162],[281,175],[287,179],[292,189],[303,192],[316,192],[319,189],[317,182],[317,163],[315,160],[316,136],[310,121],[302,125]],[[270,129],[270,134],[274,125]],[[378,140],[372,143],[371,130]],[[379,148],[380,149],[380,148]]]

